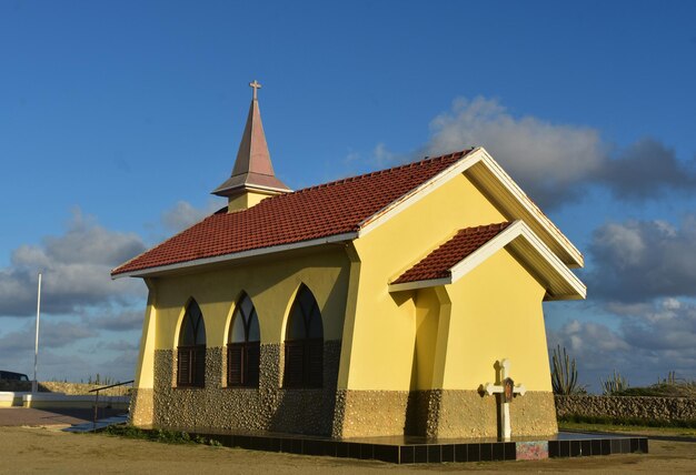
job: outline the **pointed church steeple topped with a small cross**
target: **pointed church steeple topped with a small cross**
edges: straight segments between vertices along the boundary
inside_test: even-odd
[[[253,95],[232,175],[212,192],[228,198],[229,212],[246,210],[265,198],[292,191],[274,174],[257,97],[261,84],[253,81],[249,85]]]

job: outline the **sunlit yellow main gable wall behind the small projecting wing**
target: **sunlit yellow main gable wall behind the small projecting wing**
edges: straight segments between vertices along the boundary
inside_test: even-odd
[[[390,294],[388,282],[461,229],[506,221],[463,174],[412,203],[354,242],[361,261],[351,338],[344,340],[338,385],[350,390],[408,391],[416,335],[412,293]],[[350,345],[346,348],[346,345]]]

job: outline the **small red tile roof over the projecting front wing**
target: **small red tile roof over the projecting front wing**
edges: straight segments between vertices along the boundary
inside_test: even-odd
[[[392,284],[449,277],[451,267],[497,236],[509,224],[506,222],[459,230],[453,239],[402,273]]]

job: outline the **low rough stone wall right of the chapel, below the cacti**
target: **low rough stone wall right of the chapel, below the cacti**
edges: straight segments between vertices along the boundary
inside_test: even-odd
[[[558,417],[638,417],[655,421],[696,420],[694,397],[556,396]]]

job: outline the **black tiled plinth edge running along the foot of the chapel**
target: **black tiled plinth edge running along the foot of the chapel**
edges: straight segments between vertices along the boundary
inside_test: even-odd
[[[331,456],[338,458],[375,459],[392,464],[424,464],[444,462],[494,462],[517,459],[518,442],[548,443],[548,456],[586,457],[648,452],[646,437],[606,436],[599,434],[563,434],[554,439],[495,441],[441,439],[418,441],[418,437],[387,437],[337,439],[292,434],[230,434],[197,432],[228,447],[251,451],[285,452],[290,454]],[[377,437],[379,438],[379,437]]]

